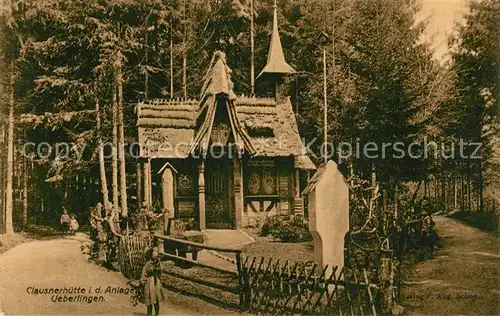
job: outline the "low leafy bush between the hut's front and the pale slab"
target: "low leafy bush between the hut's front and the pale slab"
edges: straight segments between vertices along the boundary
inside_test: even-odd
[[[281,242],[302,242],[312,239],[307,220],[299,216],[292,219],[280,216],[268,217],[262,226],[261,236],[269,234]]]

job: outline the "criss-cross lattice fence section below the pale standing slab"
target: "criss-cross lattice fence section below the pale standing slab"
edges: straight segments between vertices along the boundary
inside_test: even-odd
[[[366,270],[246,258],[244,309],[273,315],[376,315],[378,287]]]

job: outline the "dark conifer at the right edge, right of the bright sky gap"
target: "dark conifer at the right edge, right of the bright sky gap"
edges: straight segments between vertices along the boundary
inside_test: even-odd
[[[469,159],[475,186],[479,191],[479,209],[484,210],[485,180],[498,194],[500,169],[499,95],[500,83],[500,3],[472,1],[465,24],[457,25],[458,35],[451,40],[453,70],[458,98],[454,104],[456,124],[450,133],[465,142],[481,143],[481,158]],[[471,154],[475,146],[467,148]],[[485,179],[486,176],[486,179]],[[497,188],[497,189],[495,189]]]

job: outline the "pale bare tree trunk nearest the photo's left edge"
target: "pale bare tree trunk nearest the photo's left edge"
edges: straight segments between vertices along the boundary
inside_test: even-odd
[[[14,234],[14,223],[12,220],[13,211],[13,191],[12,182],[14,177],[14,92],[15,92],[15,77],[14,77],[14,61],[10,64],[10,84],[9,84],[9,121],[7,131],[7,187],[5,189],[5,233],[7,235]]]

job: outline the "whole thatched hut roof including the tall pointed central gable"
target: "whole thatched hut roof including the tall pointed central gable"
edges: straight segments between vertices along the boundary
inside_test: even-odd
[[[185,158],[209,142],[220,103],[227,107],[238,147],[255,156],[300,156],[303,145],[290,99],[236,96],[225,55],[217,52],[200,100],[153,100],[137,106],[142,157]],[[222,98],[222,99],[220,99]],[[218,105],[219,104],[219,105]],[[177,151],[175,148],[178,148]],[[305,169],[311,164],[301,160]]]

